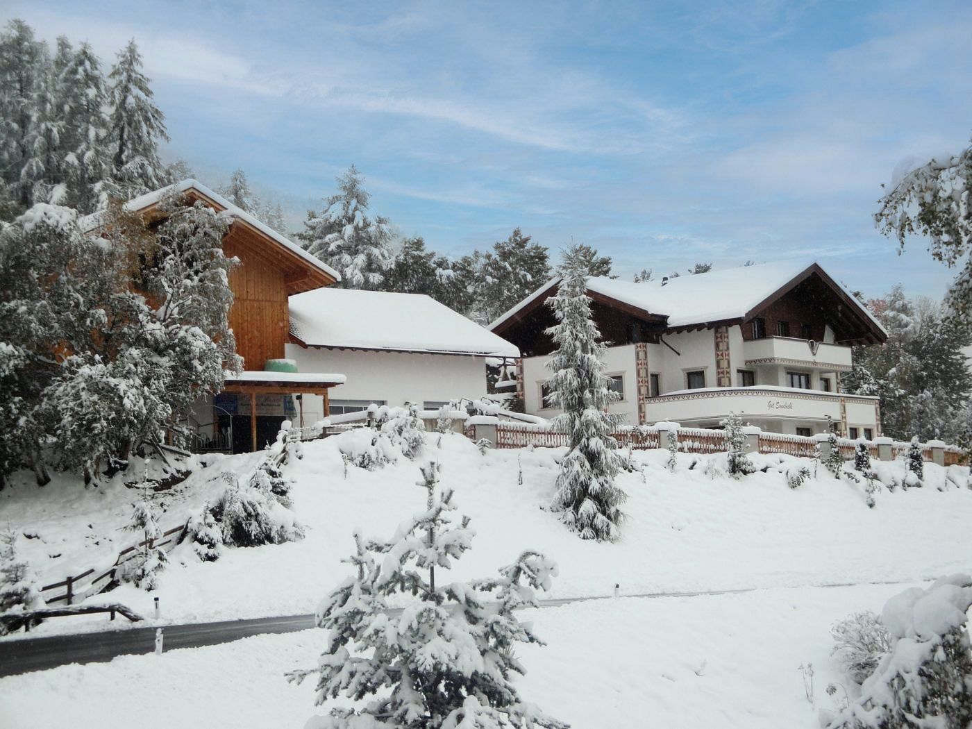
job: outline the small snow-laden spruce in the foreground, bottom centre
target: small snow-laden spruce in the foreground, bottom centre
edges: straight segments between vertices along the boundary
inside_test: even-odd
[[[436,493],[439,467],[422,468],[427,508],[402,522],[389,540],[364,541],[345,560],[352,577],[317,611],[328,645],[297,682],[318,675],[316,703],[345,696],[358,710],[332,709],[307,723],[313,729],[565,729],[524,702],[510,678],[525,669],[517,642],[542,644],[514,609],[536,606],[556,565],[523,552],[499,577],[443,584],[441,573],[469,549],[469,519],[451,522],[452,492]],[[438,577],[436,579],[436,577]],[[399,614],[389,612],[402,606]]]

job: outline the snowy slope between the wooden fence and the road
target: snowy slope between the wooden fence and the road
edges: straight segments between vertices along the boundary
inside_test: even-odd
[[[161,574],[156,592],[123,586],[90,602],[121,602],[150,615],[157,596],[167,622],[313,612],[346,573],[340,560],[352,551],[356,526],[365,536],[387,538],[425,503],[425,492],[415,485],[418,465],[404,458],[375,471],[348,467],[345,478],[338,450],[345,437],[306,443],[304,459],[287,467],[295,479],[296,514],[306,527],[303,540],[226,549],[218,562],[205,564],[184,545],[171,556],[173,564]],[[495,573],[528,547],[560,565],[552,597],[609,595],[615,583],[622,593],[632,595],[917,581],[968,570],[972,564],[972,491],[964,488],[967,468],[948,471],[963,485],[959,488],[946,485],[945,469],[926,465],[924,488],[894,493],[883,489],[876,508],[869,509],[862,486],[836,481],[822,468],[816,479],[792,490],[780,470],[740,480],[707,472],[709,464],[724,464],[721,455],[680,454],[672,473],[665,469],[667,451],[636,451],[634,457],[644,465],[643,479],[637,472],[621,475],[619,482],[630,495],[624,505],[630,518],[620,542],[609,544],[574,537],[544,510],[553,494],[555,457],[563,449],[492,450],[480,455],[460,434],[428,434],[428,441],[427,455],[442,463],[442,484],[455,489],[459,513],[471,517],[477,532],[473,548],[457,566],[458,578]],[[193,483],[208,493],[219,486],[215,479],[220,468],[245,473],[258,458],[226,458],[194,474]],[[778,469],[799,461],[784,456],[754,460]],[[812,461],[802,463],[813,469]],[[884,468],[903,473],[904,464]],[[66,500],[62,506],[47,498],[51,492],[39,489],[34,491],[33,506],[20,494],[0,501],[0,508],[25,532],[73,535],[79,544],[92,531],[111,534],[116,550],[119,539],[131,538],[130,533],[113,530],[127,521],[132,492],[102,497],[81,486],[76,492],[56,492],[58,499]],[[205,496],[191,490],[183,494],[183,511]],[[98,512],[100,504],[106,504],[103,513]],[[88,530],[95,518],[99,528]],[[167,525],[164,519],[163,523]],[[67,552],[69,545],[63,543],[59,549]],[[30,635],[104,629],[118,623],[103,616],[60,618]]]

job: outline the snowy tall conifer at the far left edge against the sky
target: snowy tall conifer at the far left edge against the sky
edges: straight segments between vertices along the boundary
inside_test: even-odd
[[[23,178],[33,151],[30,135],[48,74],[47,47],[23,20],[7,23],[0,36],[0,173],[19,211],[33,204],[32,181]]]

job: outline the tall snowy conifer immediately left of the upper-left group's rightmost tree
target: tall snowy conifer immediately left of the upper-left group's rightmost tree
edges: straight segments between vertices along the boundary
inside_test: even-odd
[[[62,149],[68,184],[64,204],[85,215],[105,202],[102,194],[111,168],[107,103],[100,61],[83,43],[60,73],[58,106],[64,114]]]

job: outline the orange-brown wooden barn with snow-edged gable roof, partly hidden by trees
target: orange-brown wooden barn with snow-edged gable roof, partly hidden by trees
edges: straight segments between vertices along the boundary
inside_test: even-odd
[[[328,391],[345,381],[343,374],[309,368],[298,372],[279,362],[290,336],[289,297],[330,286],[340,280],[340,274],[195,180],[136,197],[125,207],[151,222],[161,217],[158,204],[169,193],[183,195],[187,204],[201,200],[216,210],[229,211],[232,224],[223,249],[226,257],[240,260],[229,273],[233,293],[229,326],[237,354],[243,358],[243,371],[227,375],[224,391],[215,399],[197,403],[189,415],[190,425],[214,449],[256,450],[273,440],[284,417],[295,414],[294,396],[316,396],[327,412]],[[95,214],[83,226],[95,230],[100,223]]]

